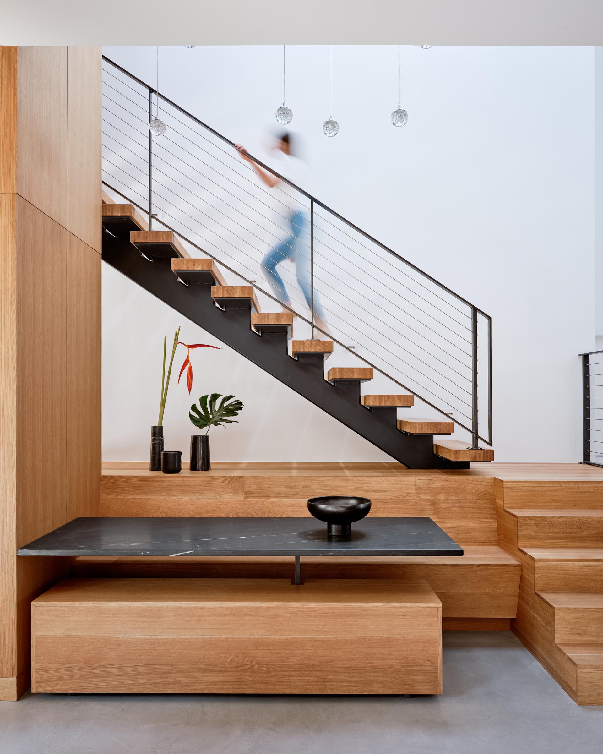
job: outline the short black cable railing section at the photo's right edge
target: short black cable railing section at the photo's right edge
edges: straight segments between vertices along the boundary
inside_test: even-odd
[[[603,466],[603,351],[582,358],[583,463]]]

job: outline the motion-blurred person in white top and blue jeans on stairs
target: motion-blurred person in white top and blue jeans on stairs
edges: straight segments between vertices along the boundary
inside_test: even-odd
[[[282,168],[279,172],[295,185],[300,188],[304,188],[304,177],[307,171],[305,165],[298,157],[297,150],[298,139],[292,133],[287,131],[280,133],[277,136],[276,142],[272,149],[280,153],[280,162]],[[289,313],[289,308],[293,308],[291,299],[289,299],[289,293],[287,293],[285,284],[277,272],[277,265],[280,262],[284,262],[289,259],[290,262],[295,262],[295,276],[297,282],[301,288],[301,292],[304,294],[308,308],[312,308],[312,287],[311,287],[311,271],[310,262],[302,252],[303,247],[303,235],[310,232],[310,219],[308,217],[308,210],[305,207],[301,207],[297,199],[288,193],[293,192],[294,189],[284,181],[274,176],[272,173],[268,173],[268,170],[264,170],[259,166],[252,158],[249,157],[249,153],[246,151],[242,144],[235,144],[240,156],[243,160],[249,162],[253,170],[256,171],[259,178],[262,180],[269,189],[280,188],[282,189],[283,204],[286,205],[286,220],[288,228],[286,231],[289,233],[284,241],[281,241],[274,249],[268,251],[264,259],[262,259],[262,268],[265,271],[268,284],[270,285],[274,296],[283,305],[283,312]],[[289,307],[289,308],[287,308]],[[329,328],[325,321],[325,314],[322,305],[320,304],[320,298],[317,290],[314,289],[314,324],[325,333],[330,333]]]

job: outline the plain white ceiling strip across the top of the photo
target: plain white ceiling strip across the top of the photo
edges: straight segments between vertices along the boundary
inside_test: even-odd
[[[0,44],[603,44],[602,0],[0,0]]]

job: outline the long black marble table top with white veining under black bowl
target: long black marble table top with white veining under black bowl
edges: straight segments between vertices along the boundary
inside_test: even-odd
[[[305,518],[77,518],[18,555],[462,555],[430,518],[369,516],[348,541]]]

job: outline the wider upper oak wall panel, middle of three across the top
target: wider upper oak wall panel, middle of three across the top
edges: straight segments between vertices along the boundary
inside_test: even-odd
[[[67,217],[67,48],[19,48],[17,193],[63,227]]]

